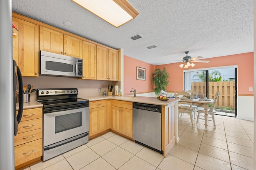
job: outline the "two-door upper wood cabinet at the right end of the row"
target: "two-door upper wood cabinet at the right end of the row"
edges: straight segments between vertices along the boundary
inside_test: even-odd
[[[97,46],[97,80],[118,81],[118,51]]]

